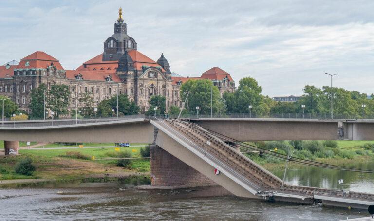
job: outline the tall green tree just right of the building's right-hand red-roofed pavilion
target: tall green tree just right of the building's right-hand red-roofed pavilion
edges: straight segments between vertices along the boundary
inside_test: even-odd
[[[242,78],[234,93],[224,93],[227,113],[249,113],[248,106],[252,105],[252,113],[267,114],[270,111],[271,101],[261,95],[261,92],[262,88],[254,78]]]

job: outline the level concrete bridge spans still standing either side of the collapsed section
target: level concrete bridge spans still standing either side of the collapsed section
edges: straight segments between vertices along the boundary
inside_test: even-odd
[[[374,140],[374,120],[185,118],[238,141]],[[152,143],[145,115],[89,120],[5,121],[0,140]]]

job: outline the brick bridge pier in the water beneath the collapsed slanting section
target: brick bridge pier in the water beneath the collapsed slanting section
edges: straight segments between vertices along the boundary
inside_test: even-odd
[[[157,145],[150,146],[150,174],[152,186],[175,188],[217,185]]]

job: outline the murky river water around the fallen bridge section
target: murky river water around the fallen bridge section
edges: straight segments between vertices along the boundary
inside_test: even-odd
[[[355,166],[360,166],[359,164]],[[374,168],[373,165],[361,165]],[[373,167],[371,167],[373,166]],[[281,178],[283,173],[276,173]],[[292,184],[374,193],[372,174],[304,167],[290,170]],[[0,220],[249,220],[336,221],[368,216],[366,211],[321,204],[267,203],[234,196],[197,197],[199,188],[138,190],[118,182],[49,184],[0,189]]]

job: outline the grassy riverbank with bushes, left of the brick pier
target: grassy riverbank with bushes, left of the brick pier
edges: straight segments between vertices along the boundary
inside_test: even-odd
[[[10,179],[83,179],[97,174],[119,174],[123,172],[147,172],[150,170],[149,159],[132,160],[131,164],[117,166],[118,160],[101,160],[104,158],[118,158],[124,152],[131,157],[140,157],[142,147],[100,147],[75,149],[19,149],[18,156],[0,156],[0,180]],[[105,144],[108,145],[108,144]],[[109,144],[110,146],[111,144]],[[114,143],[112,144],[114,145]],[[137,144],[138,145],[138,144]],[[144,148],[144,147],[143,147]],[[95,160],[92,160],[94,156]],[[17,174],[15,165],[21,159],[30,158],[36,171],[31,176]]]

